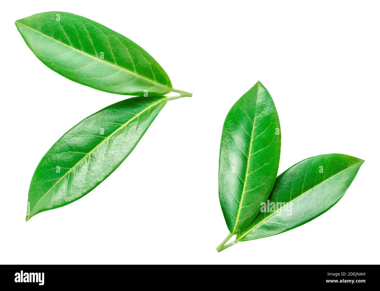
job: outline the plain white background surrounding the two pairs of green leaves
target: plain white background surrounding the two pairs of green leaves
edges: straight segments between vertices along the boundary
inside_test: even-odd
[[[379,8],[375,1],[2,3],[0,262],[379,263]],[[14,21],[54,10],[135,41],[193,98],[169,102],[87,196],[25,222],[41,157],[74,124],[127,98],[63,78],[33,55]],[[228,234],[218,200],[223,121],[257,80],[280,117],[279,173],[318,154],[366,162],[325,214],[217,253]]]

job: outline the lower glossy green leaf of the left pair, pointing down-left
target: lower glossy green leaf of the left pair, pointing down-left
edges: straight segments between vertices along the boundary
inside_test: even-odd
[[[74,202],[98,186],[131,153],[168,100],[166,96],[123,100],[65,133],[35,170],[26,220]]]

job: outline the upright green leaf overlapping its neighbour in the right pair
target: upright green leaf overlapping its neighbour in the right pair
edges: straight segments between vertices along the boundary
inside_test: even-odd
[[[219,199],[231,234],[244,230],[268,198],[279,168],[280,143],[273,100],[257,82],[228,112],[220,142]]]

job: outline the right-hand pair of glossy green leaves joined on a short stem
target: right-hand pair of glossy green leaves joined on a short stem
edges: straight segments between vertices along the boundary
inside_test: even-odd
[[[363,160],[344,154],[305,159],[277,177],[280,124],[273,100],[257,82],[227,114],[219,159],[219,199],[230,234],[218,251],[288,231],[329,210]],[[236,240],[225,245],[236,234]]]

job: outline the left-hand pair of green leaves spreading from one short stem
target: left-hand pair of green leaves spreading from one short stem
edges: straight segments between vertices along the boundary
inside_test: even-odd
[[[94,189],[131,153],[166,102],[192,94],[173,89],[163,68],[133,41],[97,22],[52,11],[16,21],[47,67],[77,83],[137,95],[92,114],[64,134],[38,164],[26,220]],[[177,92],[178,96],[163,94]]]

